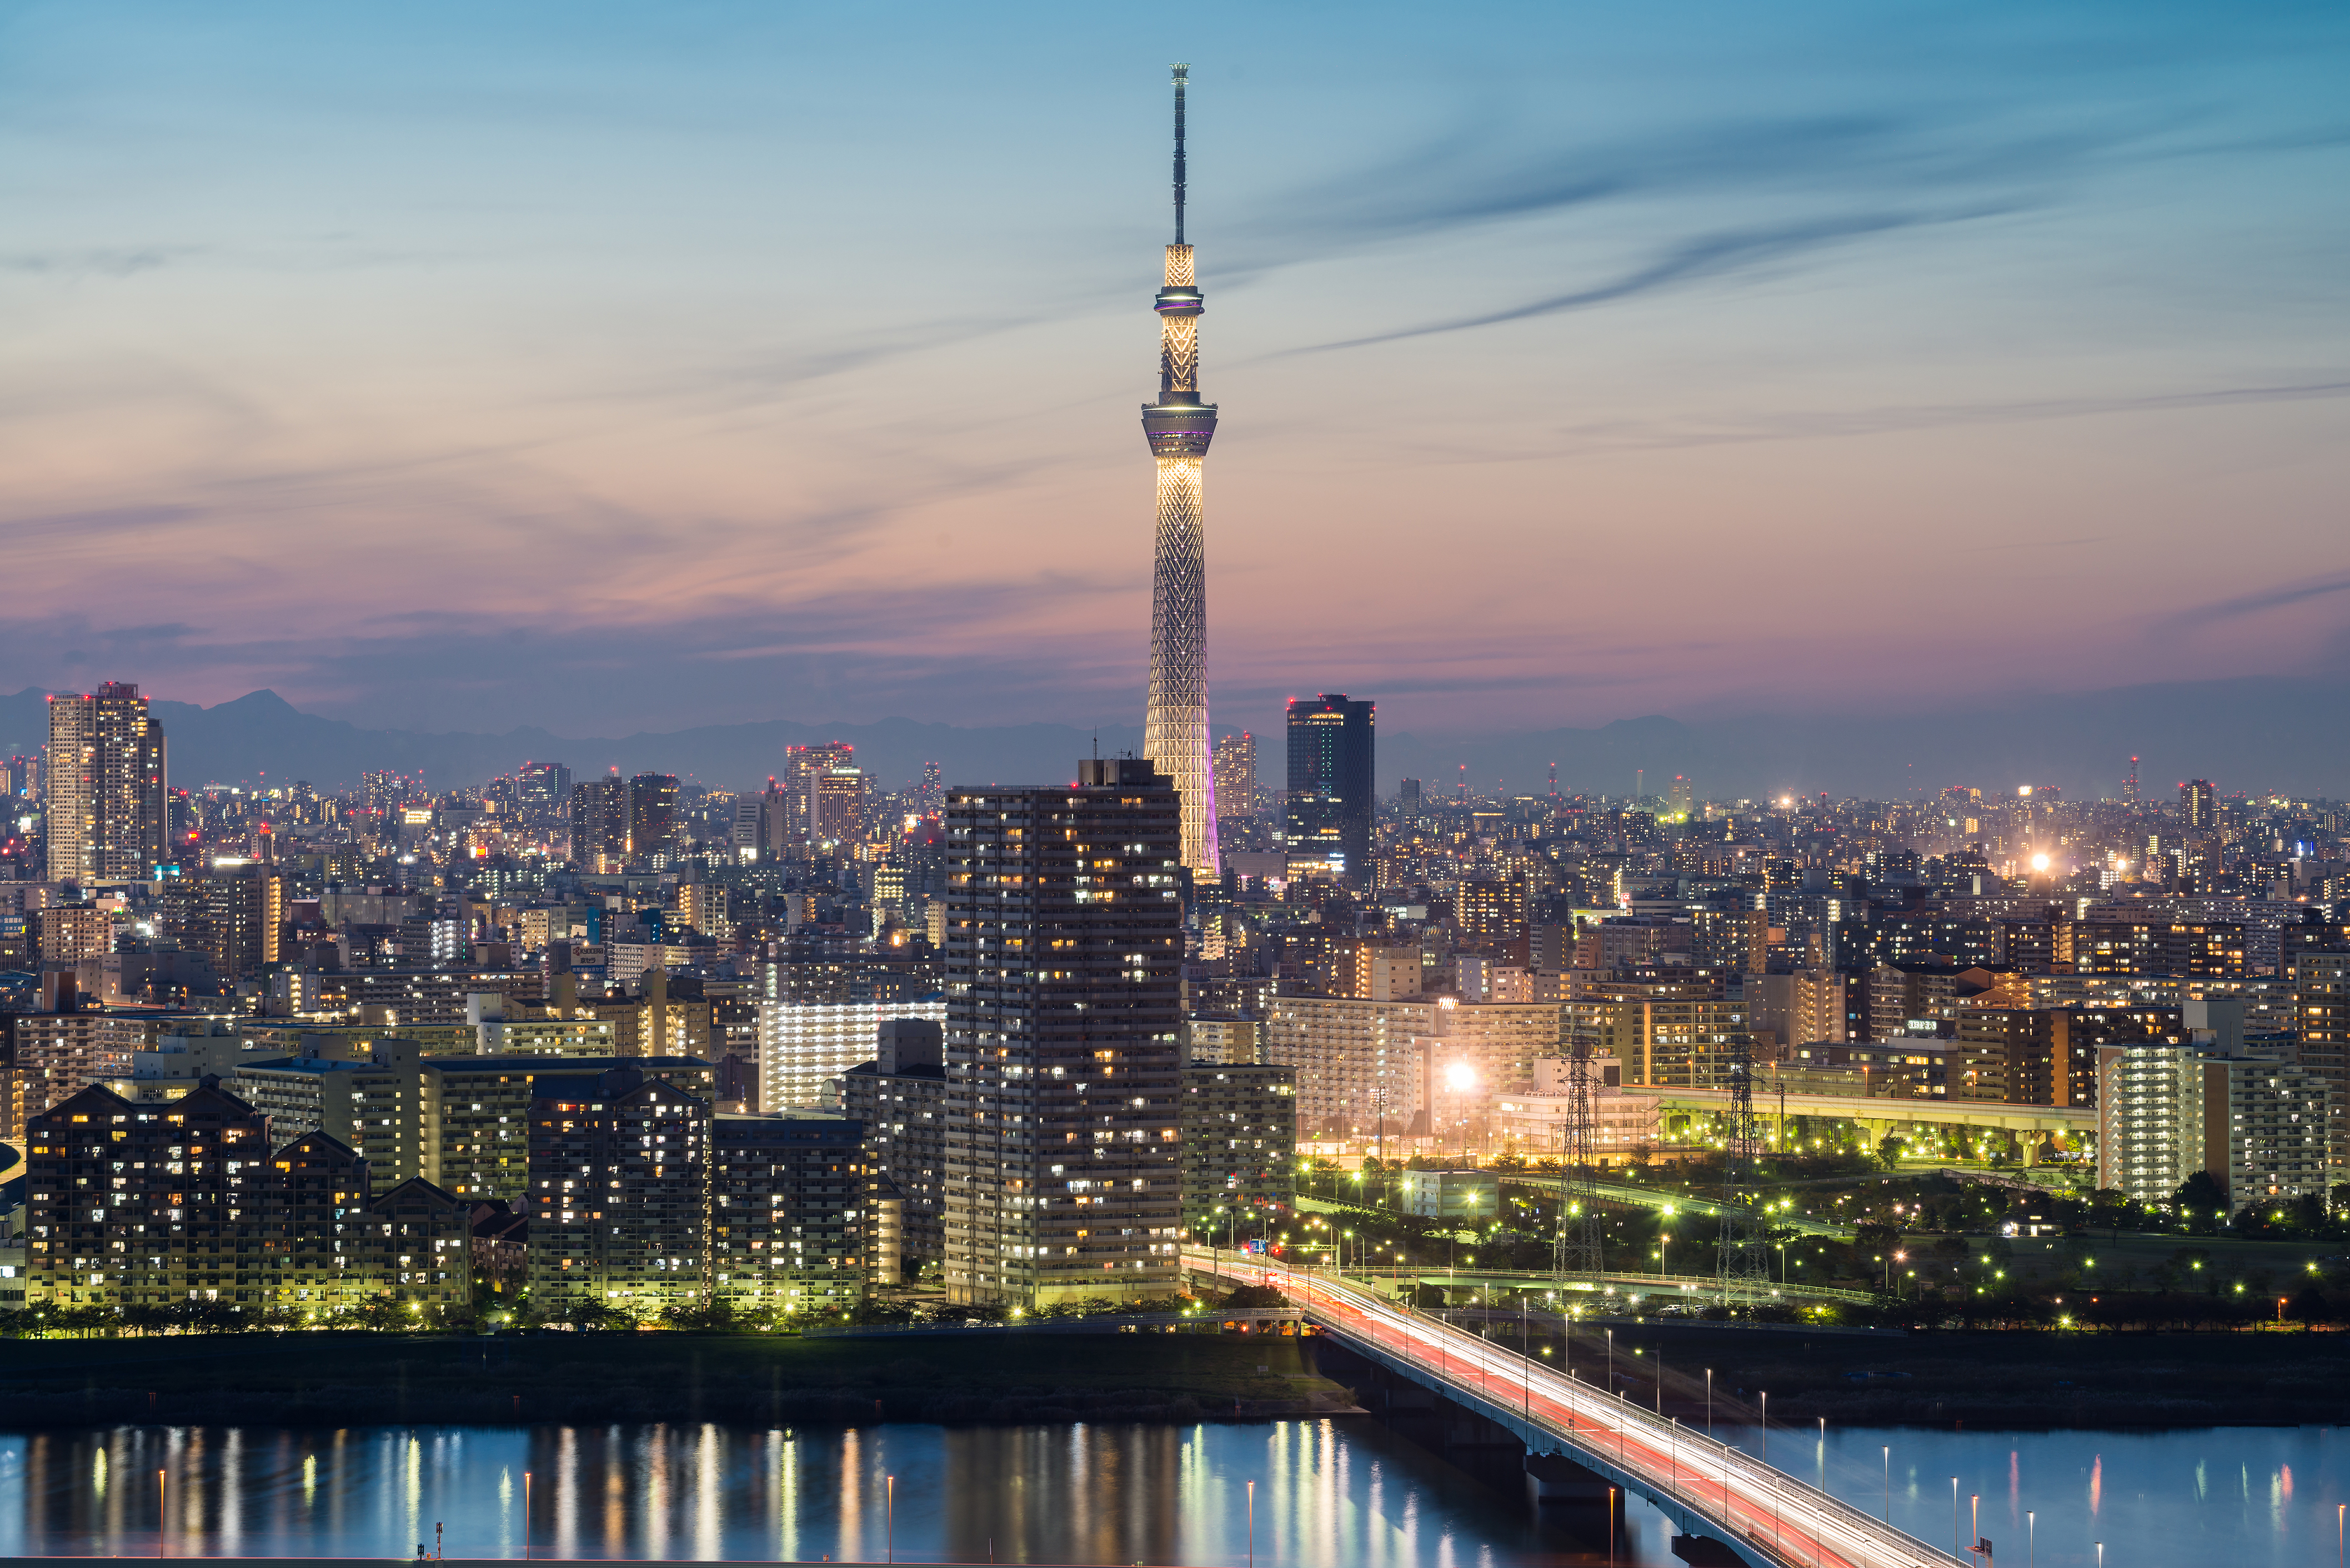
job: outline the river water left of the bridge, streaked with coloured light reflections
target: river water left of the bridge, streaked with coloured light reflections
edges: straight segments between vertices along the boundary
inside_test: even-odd
[[[146,1486],[127,1479],[143,1476]],[[895,1488],[891,1488],[895,1479]],[[0,1556],[768,1559],[1499,1568],[1605,1563],[1370,1422],[118,1427],[0,1436]],[[1248,1483],[1255,1481],[1255,1537]],[[162,1540],[157,1540],[157,1523]],[[526,1521],[526,1523],[524,1523]],[[1617,1561],[1661,1568],[1633,1512]]]

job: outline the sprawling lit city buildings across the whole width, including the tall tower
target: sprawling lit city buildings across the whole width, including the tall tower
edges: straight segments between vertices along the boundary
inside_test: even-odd
[[[1499,1171],[1762,1154],[2341,1208],[2343,802],[2148,795],[2138,757],[2084,797],[1723,797],[1640,755],[1488,792],[1382,780],[1344,693],[1288,701],[1264,795],[1208,715],[1184,92],[1142,757],[174,788],[136,684],[54,693],[0,759],[0,1307],[1065,1312],[1328,1237],[1302,1175],[1544,1246]]]

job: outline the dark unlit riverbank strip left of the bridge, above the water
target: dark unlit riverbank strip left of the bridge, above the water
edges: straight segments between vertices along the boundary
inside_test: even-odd
[[[1281,1335],[0,1340],[0,1425],[1055,1422],[1349,1408]]]

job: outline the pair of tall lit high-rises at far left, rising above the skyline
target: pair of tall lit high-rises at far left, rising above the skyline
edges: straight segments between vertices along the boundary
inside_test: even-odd
[[[169,783],[162,724],[139,686],[49,698],[42,832],[49,882],[141,882],[164,863]]]

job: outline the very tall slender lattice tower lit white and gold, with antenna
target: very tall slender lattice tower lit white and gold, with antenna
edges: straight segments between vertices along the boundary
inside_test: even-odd
[[[1152,698],[1142,752],[1182,797],[1182,863],[1213,877],[1215,757],[1208,743],[1208,534],[1198,482],[1215,440],[1215,404],[1198,400],[1198,282],[1182,242],[1182,89],[1175,66],[1175,244],[1159,289],[1159,402],[1142,435],[1159,458],[1159,538],[1152,555]]]

